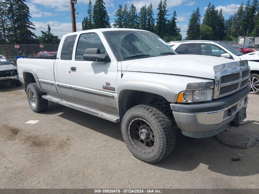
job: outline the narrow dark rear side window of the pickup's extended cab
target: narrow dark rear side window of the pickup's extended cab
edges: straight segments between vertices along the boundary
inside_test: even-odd
[[[72,60],[72,53],[74,48],[74,43],[77,35],[67,36],[64,40],[60,59],[62,60]]]

